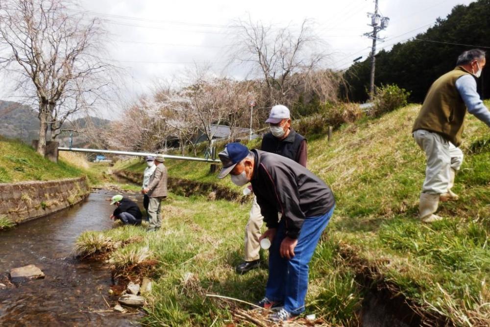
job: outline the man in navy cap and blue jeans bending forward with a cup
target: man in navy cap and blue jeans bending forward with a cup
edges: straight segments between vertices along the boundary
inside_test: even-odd
[[[219,178],[230,174],[238,186],[250,182],[268,227],[260,240],[271,243],[269,278],[257,305],[282,307],[270,320],[292,321],[305,310],[308,265],[334,211],[332,191],[305,167],[278,154],[230,143],[219,156]]]

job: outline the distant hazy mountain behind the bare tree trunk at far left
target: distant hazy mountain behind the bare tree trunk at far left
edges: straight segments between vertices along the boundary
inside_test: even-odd
[[[88,118],[77,118],[73,122],[66,122],[63,128],[78,130],[87,126],[101,127],[109,123],[110,121],[107,119],[89,116]],[[0,135],[8,138],[18,138],[30,144],[32,140],[39,137],[37,112],[31,107],[18,102],[0,100]],[[70,133],[65,132],[64,135],[60,135],[58,138],[62,145],[67,145]],[[73,146],[79,146],[84,143],[86,142],[83,140],[83,135],[73,133]]]

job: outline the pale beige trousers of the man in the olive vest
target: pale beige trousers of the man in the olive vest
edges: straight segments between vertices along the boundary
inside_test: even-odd
[[[454,171],[460,169],[463,163],[463,152],[441,135],[427,130],[416,130],[414,138],[427,158],[422,193],[446,193],[451,169]]]

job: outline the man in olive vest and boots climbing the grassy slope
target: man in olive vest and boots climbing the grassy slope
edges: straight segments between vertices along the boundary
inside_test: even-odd
[[[434,214],[439,201],[458,200],[451,188],[463,162],[463,152],[458,147],[466,110],[490,126],[490,112],[476,91],[475,79],[485,64],[484,51],[463,52],[456,68],[432,84],[415,120],[413,136],[427,158],[418,207],[424,223],[442,219]]]

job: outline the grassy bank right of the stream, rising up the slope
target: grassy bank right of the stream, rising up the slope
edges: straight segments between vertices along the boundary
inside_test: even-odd
[[[488,326],[488,127],[468,117],[466,157],[454,187],[460,201],[441,203],[440,215],[447,220],[423,225],[417,203],[425,158],[411,137],[418,110],[411,105],[364,119],[342,126],[330,143],[322,137],[309,143],[308,168],[331,185],[337,199],[311,263],[307,299],[307,312],[329,324],[359,323],[367,290],[362,275],[406,296],[429,325],[438,316],[446,324]],[[166,165],[173,176],[216,181],[208,165],[170,160]],[[111,254],[147,248],[158,261],[146,323],[209,326],[216,319],[215,326],[225,326],[229,319],[240,321],[233,302],[210,300],[205,293],[249,302],[262,295],[266,270],[245,276],[233,272],[243,254],[248,210],[247,204],[172,196],[163,210],[169,219],[163,230]]]

